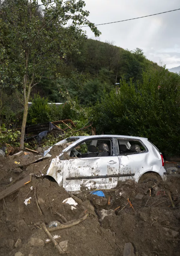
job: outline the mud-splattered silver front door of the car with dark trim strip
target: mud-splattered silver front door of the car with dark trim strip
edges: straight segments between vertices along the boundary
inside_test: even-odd
[[[117,185],[119,174],[119,158],[116,153],[116,145],[113,145],[112,137],[97,137],[91,140],[81,141],[82,144],[93,145],[97,148],[100,143],[108,143],[109,156],[92,156],[70,158],[64,160],[63,187],[67,191],[79,191],[83,187],[87,189],[112,188]],[[87,146],[88,147],[88,146]],[[114,152],[113,152],[114,151]]]

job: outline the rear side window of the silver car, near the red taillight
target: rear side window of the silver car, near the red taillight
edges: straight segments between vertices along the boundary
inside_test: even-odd
[[[118,139],[119,155],[144,153],[146,147],[140,140],[122,140]]]

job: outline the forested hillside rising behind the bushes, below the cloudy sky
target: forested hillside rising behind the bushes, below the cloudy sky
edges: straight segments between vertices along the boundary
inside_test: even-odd
[[[31,96],[39,92],[49,101],[64,102],[65,98],[58,93],[58,86],[66,86],[71,97],[76,97],[83,105],[91,105],[101,99],[104,91],[111,91],[122,77],[127,81],[130,78],[137,81],[142,79],[143,71],[161,69],[157,63],[148,60],[139,48],[128,51],[111,42],[85,39],[79,54],[71,53],[62,59],[56,70],[50,71],[51,79],[44,79],[33,88]],[[52,79],[56,73],[61,76],[58,81]]]

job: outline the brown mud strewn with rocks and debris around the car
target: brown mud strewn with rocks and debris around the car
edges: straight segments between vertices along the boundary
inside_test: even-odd
[[[53,150],[52,157],[62,148]],[[43,173],[51,160],[28,165],[41,157],[32,153],[28,156],[22,153],[0,159],[0,192],[29,173]],[[19,168],[15,161],[27,166]],[[176,165],[166,164],[166,168]],[[127,180],[103,192],[105,198],[81,191],[77,196],[82,202],[72,210],[71,205],[62,203],[70,197],[62,187],[46,178],[32,176],[29,184],[0,201],[0,255],[11,256],[17,252],[24,256],[59,255],[52,242],[44,244],[47,235],[41,228],[43,222],[47,226],[51,221],[65,224],[57,213],[66,218],[66,224],[88,215],[76,226],[52,232],[53,236],[61,236],[58,242],[68,240],[66,253],[70,256],[121,256],[127,242],[132,243],[135,255],[139,256],[180,255],[180,174],[170,174],[165,183],[148,174],[138,184]],[[25,205],[29,197],[30,203]],[[106,212],[111,215],[102,219],[103,209],[113,211]],[[34,239],[32,243],[32,238],[39,240]]]

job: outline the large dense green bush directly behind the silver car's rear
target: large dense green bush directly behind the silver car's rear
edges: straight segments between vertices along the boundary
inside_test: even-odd
[[[161,86],[161,87],[158,87]],[[143,73],[136,86],[125,80],[92,108],[96,131],[147,137],[163,153],[180,153],[180,76],[164,68]]]

